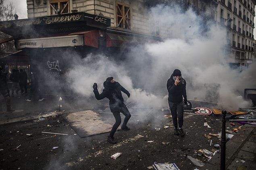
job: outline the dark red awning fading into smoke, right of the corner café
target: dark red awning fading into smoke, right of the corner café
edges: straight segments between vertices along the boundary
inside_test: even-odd
[[[156,40],[149,39],[148,37],[138,37],[114,33],[106,33],[106,41],[106,47],[129,47],[131,45],[157,42]]]

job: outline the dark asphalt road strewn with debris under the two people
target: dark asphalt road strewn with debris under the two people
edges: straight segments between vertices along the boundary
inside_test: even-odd
[[[214,145],[221,141],[217,137],[208,139],[205,134],[221,132],[222,116],[185,114],[186,134],[180,137],[173,135],[168,115],[169,110],[162,111],[162,108],[154,108],[147,115],[132,115],[128,123],[131,130],[117,131],[115,145],[107,142],[108,133],[79,137],[62,115],[3,124],[0,125],[0,170],[147,170],[154,169],[154,162],[175,163],[182,170],[200,169],[185,155],[208,163],[197,151],[217,150]],[[227,124],[227,128],[232,130],[233,126]],[[116,160],[111,158],[119,152],[121,156]]]

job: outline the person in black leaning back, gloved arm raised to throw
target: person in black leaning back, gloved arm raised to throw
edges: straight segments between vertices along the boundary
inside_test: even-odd
[[[127,122],[129,121],[131,114],[123,102],[122,92],[124,92],[128,96],[128,98],[130,97],[130,93],[125,88],[123,88],[123,86],[121,86],[119,82],[116,82],[113,77],[108,77],[103,83],[103,86],[104,89],[101,94],[99,94],[98,92],[97,83],[94,83],[92,87],[94,89],[94,95],[97,100],[101,100],[105,97],[109,99],[110,111],[113,113],[116,122],[114,123],[110,131],[110,134],[108,136],[108,142],[115,144],[117,143],[117,141],[114,139],[114,133],[117,131],[117,128],[121,124],[120,112],[125,115],[125,119],[123,121],[121,129],[125,131],[130,130],[130,128],[127,127]]]

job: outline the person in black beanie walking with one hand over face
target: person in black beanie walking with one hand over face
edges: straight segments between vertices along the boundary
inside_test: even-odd
[[[186,81],[181,76],[181,71],[175,69],[167,81],[168,104],[173,118],[174,135],[184,136],[183,126],[183,104],[187,102]],[[184,103],[183,103],[184,98]],[[179,129],[178,129],[179,125]]]

